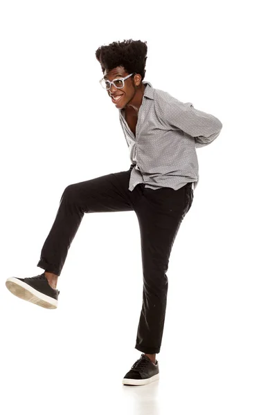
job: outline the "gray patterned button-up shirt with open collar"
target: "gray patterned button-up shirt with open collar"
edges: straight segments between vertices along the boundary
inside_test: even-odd
[[[196,147],[210,144],[220,134],[220,120],[180,102],[169,93],[143,82],[145,90],[139,108],[136,136],[119,109],[121,127],[129,147],[132,169],[129,190],[139,183],[150,189],[172,187],[199,181]]]

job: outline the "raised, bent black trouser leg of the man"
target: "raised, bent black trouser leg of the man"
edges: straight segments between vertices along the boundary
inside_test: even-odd
[[[39,268],[60,275],[84,213],[134,210],[139,194],[136,187],[132,192],[128,190],[132,167],[126,172],[111,173],[66,187],[42,247]]]

